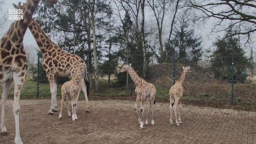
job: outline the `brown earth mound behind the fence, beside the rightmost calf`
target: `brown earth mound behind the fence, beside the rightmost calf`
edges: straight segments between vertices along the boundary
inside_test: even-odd
[[[182,66],[176,64],[175,79],[179,79]],[[205,69],[199,66],[191,66],[192,73],[186,74],[183,82],[184,94],[182,103],[197,106],[210,106],[222,108],[235,108],[242,110],[256,109],[255,84],[234,84],[233,103],[231,106],[231,83],[218,78],[213,78]],[[157,89],[157,98],[169,101],[169,90],[173,85],[173,64],[157,64],[151,66],[150,74],[146,75],[146,81],[151,82]]]

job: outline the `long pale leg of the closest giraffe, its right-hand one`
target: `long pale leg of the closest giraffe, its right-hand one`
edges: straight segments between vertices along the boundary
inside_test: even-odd
[[[20,93],[22,86],[24,84],[26,78],[26,71],[25,75],[21,76],[21,73],[13,74],[14,80],[14,104],[12,105],[12,110],[14,112],[14,119],[15,119],[15,144],[23,144],[20,137],[20,126],[19,126],[19,113],[20,113]]]

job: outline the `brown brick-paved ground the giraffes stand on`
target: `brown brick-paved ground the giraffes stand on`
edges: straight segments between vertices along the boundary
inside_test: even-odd
[[[1,144],[14,143],[12,102],[7,100],[5,122],[9,133],[0,135]],[[85,113],[85,101],[79,101],[75,122],[68,117],[65,105],[59,119],[59,111],[46,115],[50,100],[20,102],[20,134],[24,144],[256,143],[256,112],[183,105],[182,124],[177,127],[170,125],[169,104],[156,102],[155,126],[139,130],[133,108],[135,100],[92,100],[90,113]],[[58,104],[60,110],[60,101]]]

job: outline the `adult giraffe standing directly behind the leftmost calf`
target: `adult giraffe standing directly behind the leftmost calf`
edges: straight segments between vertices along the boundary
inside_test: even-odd
[[[43,68],[46,71],[47,78],[50,83],[50,91],[52,94],[51,108],[47,114],[53,114],[57,111],[57,79],[56,76],[75,76],[78,68],[77,62],[84,63],[84,60],[78,55],[64,52],[57,44],[55,44],[44,33],[41,26],[32,18],[28,25],[34,39],[37,42],[39,49],[43,54]],[[87,69],[85,69],[86,84],[84,81],[84,75],[81,75],[80,86],[84,92],[86,100],[86,112],[90,112],[90,106],[88,101],[89,81],[87,77]]]

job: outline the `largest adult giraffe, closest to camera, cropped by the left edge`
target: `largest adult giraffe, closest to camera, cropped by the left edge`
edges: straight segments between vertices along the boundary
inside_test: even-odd
[[[49,1],[57,3],[57,0]],[[27,0],[26,4],[23,3],[23,19],[13,22],[0,39],[0,85],[4,84],[1,95],[1,135],[7,135],[5,105],[7,93],[11,89],[12,81],[14,81],[12,110],[15,118],[14,142],[16,144],[22,144],[19,127],[20,93],[27,73],[27,56],[23,47],[23,38],[39,2],[40,0]],[[21,2],[18,3],[18,6],[21,6]]]

